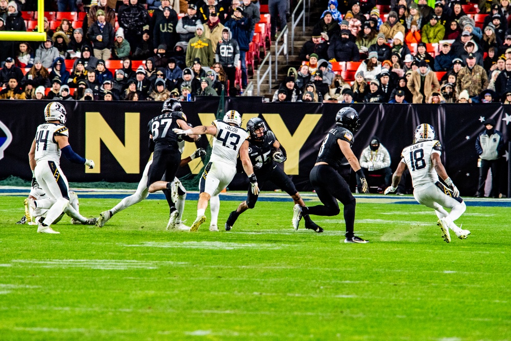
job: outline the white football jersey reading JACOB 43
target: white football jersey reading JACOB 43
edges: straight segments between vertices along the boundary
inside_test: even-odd
[[[236,168],[238,154],[241,145],[248,138],[248,132],[220,120],[213,121],[213,124],[217,127],[217,133],[213,138],[210,161],[223,162]]]

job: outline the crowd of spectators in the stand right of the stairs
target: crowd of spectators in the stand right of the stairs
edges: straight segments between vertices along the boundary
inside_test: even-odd
[[[330,0],[272,100],[509,104],[511,5],[479,6],[484,22],[459,0],[391,0],[387,14],[374,0]],[[338,62],[359,65],[334,72]]]

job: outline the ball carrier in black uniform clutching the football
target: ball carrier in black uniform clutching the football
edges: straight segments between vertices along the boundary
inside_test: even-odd
[[[264,183],[264,181],[270,180],[293,198],[295,202],[295,207],[293,209],[293,227],[295,230],[298,230],[298,224],[301,219],[301,208],[305,207],[304,200],[301,199],[300,194],[296,191],[296,187],[289,176],[275,164],[275,162],[282,163],[286,161],[286,150],[277,141],[275,134],[273,134],[271,130],[268,130],[266,123],[262,119],[255,117],[248,120],[247,130],[250,133],[248,155],[258,182]],[[229,218],[225,223],[225,231],[230,231],[230,229],[233,228],[240,214],[255,207],[255,202],[257,202],[258,197],[259,194],[253,194],[251,188],[248,189],[247,199],[240,203],[236,211],[229,214]],[[316,225],[309,215],[304,215],[304,218],[306,229],[323,232],[323,229]]]

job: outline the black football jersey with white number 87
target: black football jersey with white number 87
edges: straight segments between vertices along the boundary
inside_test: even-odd
[[[155,144],[163,142],[170,146],[178,147],[178,143],[181,140],[172,130],[174,128],[180,128],[176,122],[177,120],[187,121],[186,116],[181,111],[162,113],[149,121],[147,124],[148,131],[149,134],[153,135]]]

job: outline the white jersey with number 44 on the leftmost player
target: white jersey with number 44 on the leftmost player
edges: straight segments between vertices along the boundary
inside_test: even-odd
[[[60,148],[55,137],[58,135],[69,136],[67,127],[59,123],[44,123],[37,127],[35,133],[35,161],[42,160],[60,163]]]

